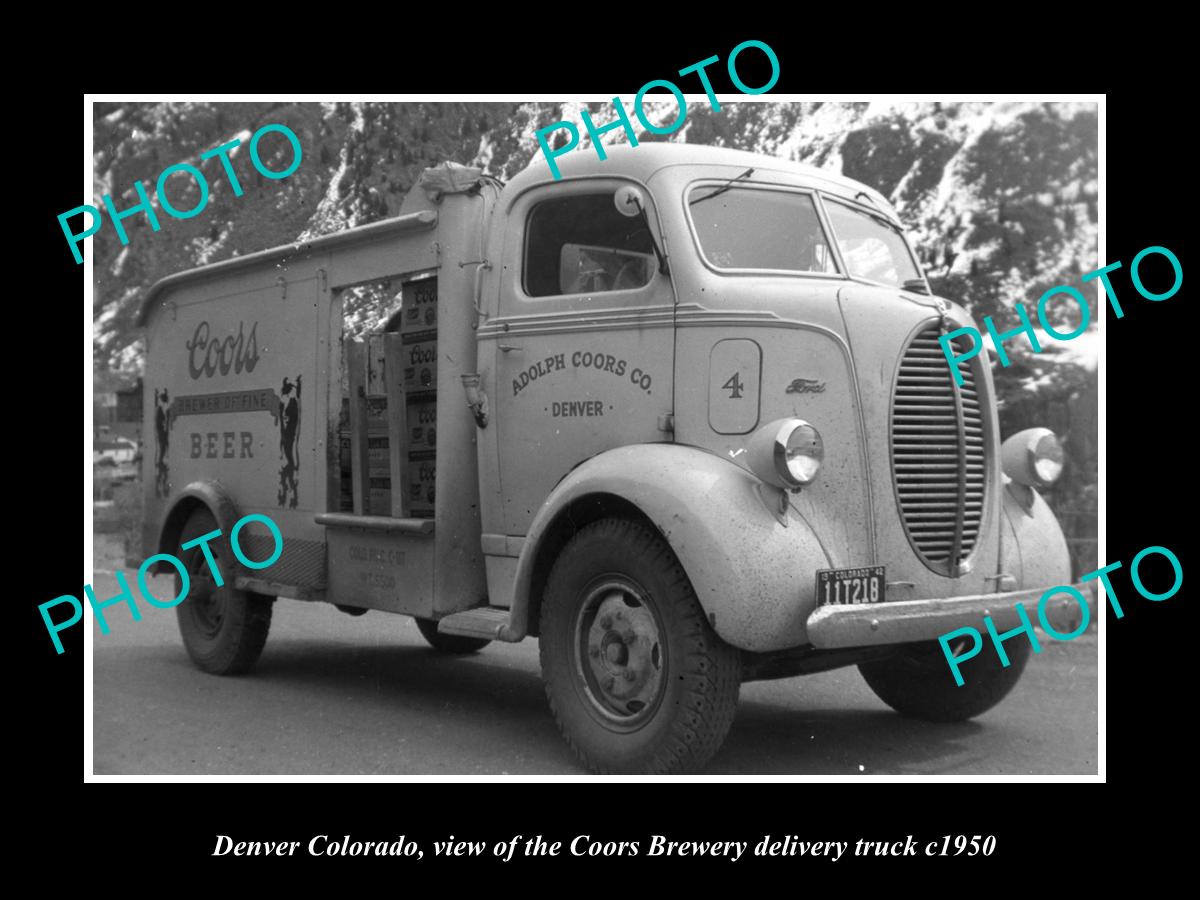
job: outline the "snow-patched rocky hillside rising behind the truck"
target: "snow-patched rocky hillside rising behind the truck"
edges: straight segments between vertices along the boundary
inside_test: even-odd
[[[578,121],[583,106],[598,121],[610,118],[607,104],[582,103],[97,103],[96,198],[115,192],[119,208],[136,203],[134,180],[152,186],[167,166],[194,164],[204,150],[269,122],[286,124],[304,146],[300,168],[272,181],[253,170],[244,145],[234,156],[241,197],[209,160],[202,166],[212,188],[208,208],[190,220],[160,214],[157,233],[144,216],[127,220],[127,247],[106,222],[91,239],[97,383],[139,370],[132,320],[155,280],[395,215],[421,169],[444,160],[511,178],[536,152],[534,131]],[[673,120],[673,101],[655,113]],[[1009,320],[1014,301],[1033,304],[1049,287],[1078,284],[1106,262],[1097,259],[1091,104],[743,102],[712,112],[700,103],[670,139],[773,154],[872,185],[911,228],[937,293],[977,317]],[[278,144],[276,168],[289,158],[286,142]],[[174,182],[170,196],[181,209],[198,199]],[[997,370],[1002,424],[1006,431],[1045,424],[1068,436],[1070,466],[1057,505],[1086,510],[1094,506],[1096,481],[1094,330],[1044,346]]]

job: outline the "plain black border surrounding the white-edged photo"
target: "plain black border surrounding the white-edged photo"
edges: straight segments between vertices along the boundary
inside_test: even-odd
[[[558,25],[553,25],[558,28]],[[563,26],[566,29],[566,26]],[[80,202],[80,131],[84,121],[82,92],[61,89],[56,98],[38,98],[38,139],[26,145],[37,179],[19,184],[30,191],[22,203],[20,221],[28,228],[19,238],[10,236],[10,253],[19,270],[28,252],[38,260],[32,277],[10,294],[19,302],[19,320],[8,332],[10,409],[17,412],[10,428],[10,445],[22,449],[16,468],[10,469],[10,497],[17,505],[14,526],[7,532],[8,571],[17,586],[10,598],[14,611],[11,623],[22,623],[23,656],[10,667],[11,694],[18,697],[20,720],[13,722],[10,746],[20,748],[19,766],[10,767],[10,778],[34,788],[26,810],[14,823],[29,829],[30,844],[54,850],[59,862],[83,856],[89,865],[104,866],[107,881],[127,876],[124,864],[152,852],[180,866],[181,872],[204,872],[205,877],[228,877],[232,872],[258,870],[263,875],[301,875],[310,887],[318,882],[354,884],[349,878],[364,875],[397,877],[395,889],[415,882],[406,881],[424,874],[442,880],[445,886],[461,886],[473,874],[491,877],[505,871],[536,877],[539,872],[578,869],[592,864],[607,882],[601,889],[643,890],[647,882],[630,877],[647,872],[672,872],[700,876],[716,887],[731,880],[743,889],[754,889],[755,876],[763,871],[790,878],[804,889],[814,877],[845,876],[865,870],[882,872],[889,880],[906,874],[932,876],[934,890],[965,893],[973,884],[946,881],[950,874],[1004,872],[1013,888],[1045,887],[1044,880],[1031,877],[1033,869],[1048,866],[1050,880],[1073,878],[1084,869],[1103,865],[1112,851],[1110,844],[1146,845],[1159,860],[1176,852],[1170,845],[1171,829],[1158,818],[1169,799],[1192,780],[1193,755],[1188,752],[1186,732],[1192,725],[1194,706],[1187,677],[1193,631],[1184,622],[1188,584],[1168,601],[1153,604],[1139,598],[1128,580],[1128,563],[1148,545],[1170,547],[1189,571],[1189,541],[1181,522],[1190,512],[1193,384],[1190,373],[1195,355],[1190,350],[1193,332],[1184,323],[1184,288],[1170,300],[1150,302],[1133,289],[1128,264],[1134,254],[1151,245],[1171,248],[1184,271],[1189,271],[1183,228],[1190,223],[1189,209],[1194,196],[1188,154],[1177,144],[1174,126],[1186,115],[1186,104],[1160,90],[1170,78],[1159,68],[1152,48],[1142,44],[1134,65],[1118,65],[1112,56],[1105,72],[1082,76],[1078,64],[1085,53],[1099,53],[1097,43],[1087,43],[1075,34],[1062,53],[1073,56],[1072,67],[1051,66],[1057,59],[1056,46],[1004,35],[995,48],[966,54],[929,35],[900,32],[876,36],[874,41],[836,44],[817,53],[814,41],[802,32],[772,34],[737,19],[718,25],[689,41],[667,41],[662,31],[653,40],[619,19],[613,31],[592,40],[571,37],[558,43],[548,37],[522,41],[500,37],[493,26],[472,38],[475,52],[466,49],[463,36],[454,38],[452,48],[438,46],[446,37],[430,37],[424,56],[407,50],[402,61],[377,60],[361,73],[343,77],[337,84],[318,77],[302,77],[286,85],[276,79],[260,84],[269,90],[334,91],[432,91],[456,90],[491,92],[604,91],[631,96],[642,83],[671,74],[706,56],[722,58],[739,41],[755,37],[767,41],[778,53],[781,79],[772,90],[780,92],[872,92],[905,90],[912,92],[960,96],[964,91],[1110,91],[1106,107],[1106,184],[1103,197],[1108,205],[1106,262],[1122,260],[1124,268],[1114,283],[1126,311],[1117,320],[1108,317],[1108,552],[1106,562],[1122,560],[1126,568],[1114,577],[1122,598],[1126,618],[1111,616],[1103,628],[1108,637],[1106,786],[1063,785],[1045,779],[1033,782],[937,782],[922,780],[910,784],[138,784],[84,785],[83,773],[90,761],[83,756],[80,722],[85,703],[83,692],[83,628],[64,632],[66,653],[54,654],[37,604],[59,594],[80,594],[80,578],[86,578],[78,557],[70,546],[78,539],[80,509],[80,464],[90,464],[88,446],[74,442],[79,426],[70,409],[83,394],[74,378],[90,366],[90,314],[79,314],[77,266],[65,245],[55,216]],[[464,29],[464,31],[468,29]],[[568,31],[570,29],[566,29]],[[564,31],[565,34],[565,31]],[[216,40],[216,38],[214,38]],[[1140,38],[1105,36],[1103,41],[1121,43],[1122,52]],[[494,53],[496,42],[504,43],[503,61]],[[319,44],[319,36],[295,37],[295,46]],[[343,48],[344,49],[344,48]],[[451,52],[452,50],[452,52]],[[1049,55],[1048,55],[1049,54]],[[739,71],[748,84],[762,84],[766,70],[755,72],[756,52],[739,59]],[[1003,62],[1004,77],[996,76],[992,61]],[[745,65],[743,65],[743,62]],[[989,76],[976,84],[965,83],[968,62],[986,64]],[[917,65],[922,64],[922,65]],[[1056,84],[1016,83],[1010,77],[1042,66],[1042,74],[1052,71]],[[1045,68],[1050,66],[1050,68]],[[1028,67],[1028,68],[1026,68]],[[358,66],[350,66],[354,71]],[[214,80],[214,71],[226,76]],[[156,72],[154,86],[161,91],[239,91],[258,90],[259,85],[245,67],[205,68],[203,78],[186,73],[174,76]],[[709,70],[719,92],[733,91],[724,74],[724,65]],[[318,73],[328,74],[328,73]],[[918,77],[924,74],[925,78]],[[931,77],[930,77],[931,76]],[[1066,77],[1064,77],[1066,76]],[[683,79],[679,79],[683,80]],[[142,91],[148,79],[136,72],[124,83],[89,84],[92,90]],[[14,85],[20,90],[19,85]],[[697,85],[683,84],[684,90]],[[1175,142],[1175,143],[1172,143]],[[11,167],[18,163],[11,163]],[[25,158],[20,166],[30,168]],[[11,175],[16,169],[11,168]],[[25,179],[16,179],[25,181]],[[10,206],[10,215],[13,210]],[[1158,260],[1159,263],[1162,260]],[[1154,280],[1154,268],[1147,263],[1146,281]],[[1169,278],[1165,265],[1162,277]],[[1032,302],[1034,299],[1027,299]],[[74,359],[80,334],[84,359]],[[90,398],[84,397],[86,404]],[[22,425],[17,425],[20,422]],[[28,431],[26,431],[28,430]],[[12,458],[12,457],[10,457]],[[10,463],[11,466],[13,463]],[[86,500],[88,498],[85,498]],[[84,529],[89,528],[89,503],[83,504]],[[1159,563],[1162,560],[1158,560]],[[1163,566],[1162,576],[1169,578]],[[1162,586],[1153,566],[1144,570],[1151,588]],[[1169,581],[1166,582],[1169,583]],[[102,638],[100,638],[102,640]],[[1102,707],[1103,708],[1103,707]],[[1021,773],[1013,773],[1020,775]],[[1100,794],[1099,792],[1104,793]],[[128,796],[132,793],[132,797]],[[944,834],[992,834],[997,851],[990,859],[862,859],[842,858],[838,863],[823,859],[755,859],[738,864],[722,859],[650,859],[632,860],[574,859],[568,854],[551,860],[521,860],[499,864],[484,860],[445,860],[426,856],[420,864],[394,859],[233,859],[210,857],[216,834],[230,834],[235,840],[307,840],[317,834],[356,840],[395,840],[403,834],[428,847],[432,840],[449,834],[460,839],[508,839],[512,834],[544,835],[547,840],[566,840],[578,834],[595,839],[648,841],[650,834],[672,840],[749,840],[764,834],[773,839],[785,834],[802,839],[850,840],[858,838],[902,840],[914,835],[920,840],[940,839]],[[73,834],[67,839],[67,834]],[[35,838],[36,835],[36,838]],[[83,838],[80,840],[80,838]],[[66,841],[66,842],[64,842]],[[122,847],[125,850],[122,850]],[[302,848],[301,848],[302,850]],[[1121,851],[1124,853],[1127,851]],[[91,869],[100,871],[100,869]],[[628,872],[628,875],[626,875]],[[317,876],[318,881],[312,881]],[[97,877],[98,874],[97,874]],[[943,878],[936,881],[936,878]],[[328,880],[328,881],[326,881]],[[178,882],[176,882],[178,883]],[[220,883],[220,882],[206,882]],[[228,883],[228,882],[226,882]],[[270,882],[272,886],[275,881]],[[892,882],[898,883],[898,882]],[[559,882],[575,887],[581,882]],[[166,886],[164,886],[166,887]]]

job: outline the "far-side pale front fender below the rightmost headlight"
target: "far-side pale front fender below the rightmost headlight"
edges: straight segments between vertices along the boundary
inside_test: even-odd
[[[1025,503],[1019,499],[1022,493]],[[1067,539],[1042,494],[1006,479],[1003,510],[1001,571],[1016,578],[1021,588],[1069,584]]]

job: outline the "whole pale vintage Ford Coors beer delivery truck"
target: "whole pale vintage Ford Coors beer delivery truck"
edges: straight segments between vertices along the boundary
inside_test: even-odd
[[[601,773],[702,767],[756,678],[858,665],[936,720],[1000,702],[1028,640],[959,686],[936,637],[1068,582],[1037,491],[1062,452],[1001,448],[985,354],[956,386],[938,337],[970,317],[886,198],[686,144],[559,162],[428,169],[395,218],[151,288],[143,558],[193,572],[194,662],[248,670],[280,596],[451,653],[538,637]],[[217,586],[181,547],[250,514],[282,553],[222,538]]]

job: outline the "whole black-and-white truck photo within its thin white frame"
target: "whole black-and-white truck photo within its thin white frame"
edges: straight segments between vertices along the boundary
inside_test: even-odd
[[[1103,96],[746,80],[90,101],[90,776],[1103,776]]]

